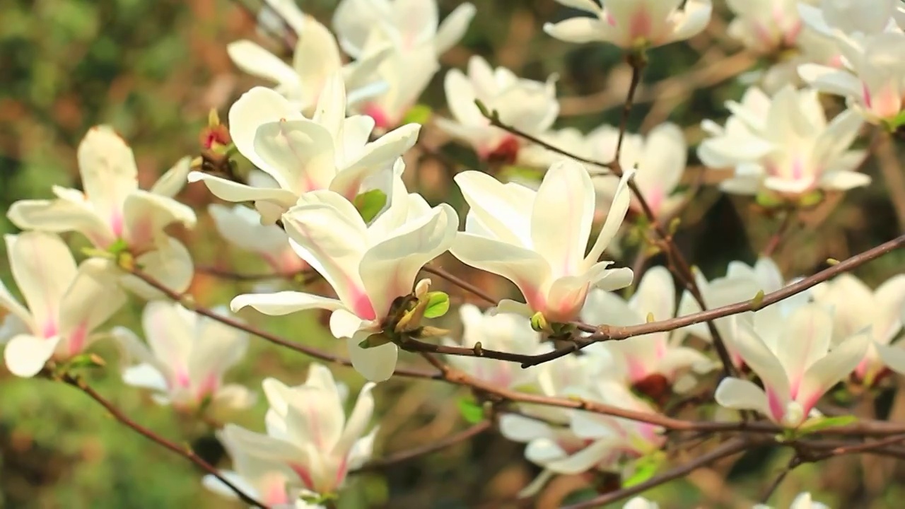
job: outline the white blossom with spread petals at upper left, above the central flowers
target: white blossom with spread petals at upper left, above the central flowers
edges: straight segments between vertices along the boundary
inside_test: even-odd
[[[346,84],[350,106],[386,91],[386,83],[375,80],[377,66],[388,56],[388,50],[343,64],[336,39],[328,28],[310,16],[298,14],[299,38],[291,65],[252,41],[230,43],[226,52],[242,71],[275,82],[274,90],[288,99],[294,110],[305,113],[314,110],[330,77],[337,72]]]

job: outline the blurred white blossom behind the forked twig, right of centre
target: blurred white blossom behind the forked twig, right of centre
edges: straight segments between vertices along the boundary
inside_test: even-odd
[[[595,147],[593,158],[611,161],[615,157],[619,130],[611,126],[601,126],[588,134],[587,142]],[[673,194],[679,187],[685,164],[688,161],[688,145],[679,126],[662,123],[653,128],[647,136],[627,134],[619,154],[622,168],[635,168],[634,184],[641,191],[647,205],[656,217],[672,216],[681,206],[681,194]],[[597,193],[605,203],[612,203],[619,179],[614,175],[594,178]],[[642,212],[638,198],[632,196],[631,208]]]

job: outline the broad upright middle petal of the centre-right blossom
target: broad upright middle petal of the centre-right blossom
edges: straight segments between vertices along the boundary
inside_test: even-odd
[[[538,187],[531,212],[531,244],[553,277],[581,274],[591,223],[594,184],[587,169],[573,160],[554,163]]]

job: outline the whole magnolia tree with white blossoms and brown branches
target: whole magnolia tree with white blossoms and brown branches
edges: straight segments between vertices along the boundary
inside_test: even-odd
[[[53,199],[9,209],[23,231],[5,238],[22,294],[0,286],[7,370],[81,389],[202,468],[199,487],[256,507],[335,507],[357,473],[479,433],[524,444],[538,466],[519,500],[556,476],[582,479],[594,495],[574,509],[657,507],[648,489],[764,447],[791,459],[764,480],[760,504],[775,504],[799,465],[905,458],[905,425],[836,397],[870,399],[905,374],[905,274],[875,287],[847,274],[905,236],[812,274],[783,274],[771,259],[800,214],[880,186],[862,166],[905,124],[905,7],[729,0],[725,35],[771,63],[741,76],[747,90],[691,142],[672,123],[637,134],[627,124],[649,55],[719,29],[710,0],[557,2],[569,9],[545,36],[624,53],[618,125],[557,129],[557,76],[521,78],[477,55],[443,72],[445,104],[419,102],[481,4],[441,20],[433,0],[343,0],[321,24],[269,0],[259,26],[291,62],[252,41],[226,48],[266,86],[234,101],[226,124],[212,113],[200,157],[142,189],[127,141],[95,127],[78,148],[81,190],[53,187]],[[477,169],[449,162],[432,136],[472,149]],[[690,145],[703,164],[694,170]],[[424,156],[450,170],[463,203],[419,194]],[[773,218],[755,264],[732,261],[708,279],[680,249],[683,212],[700,195],[690,181]],[[186,184],[227,203],[195,211],[176,199]],[[195,227],[203,213],[224,244],[271,267],[270,283],[218,308],[195,303],[192,256],[167,227]],[[65,232],[90,247],[73,255]],[[481,273],[512,285],[488,290]],[[243,267],[215,274],[252,279]],[[144,309],[137,330],[109,323],[129,302]],[[328,312],[342,353],[266,331],[268,316],[313,310]],[[91,351],[97,339],[119,345],[115,364]],[[224,381],[259,340],[316,360],[307,381]],[[211,465],[114,407],[90,386],[105,364],[214,427],[231,464]],[[357,395],[336,366],[367,379]],[[387,379],[470,389],[444,404],[471,427],[381,457],[375,405],[390,396]],[[260,394],[263,426],[233,424]],[[791,506],[826,507],[808,492]]]

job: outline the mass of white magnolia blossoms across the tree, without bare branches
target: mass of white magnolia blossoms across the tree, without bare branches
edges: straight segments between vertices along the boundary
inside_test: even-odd
[[[547,24],[548,34],[571,43],[613,43],[633,53],[699,34],[711,14],[709,0],[608,0],[605,6],[557,1],[593,15]],[[273,84],[246,91],[229,109],[224,145],[252,164],[248,178],[214,175],[186,158],[151,189],[139,189],[131,150],[101,126],[90,130],[78,151],[83,192],[54,187],[52,200],[22,200],[10,208],[9,219],[25,230],[7,235],[6,245],[27,307],[0,286],[0,305],[9,312],[0,338],[8,341],[5,363],[15,375],[35,376],[86,355],[130,292],[148,302],[144,340],[122,327],[110,334],[124,352],[125,383],[217,425],[252,406],[252,391],[224,383],[249,341],[230,325],[236,319],[226,310],[201,313],[172,303],[148,284],[181,294],[191,283],[192,258],[166,230],[195,226],[193,210],[174,199],[186,182],[201,182],[215,197],[237,204],[208,209],[229,243],[260,255],[276,274],[313,271],[332,290],[259,288],[235,296],[231,312],[326,310],[330,333],[345,343],[352,366],[368,380],[347,417],[348,390],[326,367],[312,364],[300,386],[263,381],[265,433],[222,427],[218,436],[233,459],[224,478],[271,507],[317,507],[367,462],[378,430],[370,422],[372,390],[393,376],[400,347],[410,341],[543,355],[555,348],[553,341],[585,337],[576,322],[621,327],[665,321],[700,312],[703,304],[750,301],[789,283],[765,257],[753,266],[732,262],[725,276],[710,281],[695,273],[697,296],[677,288],[664,266],[633,274],[602,260],[617,245],[627,216],[647,214],[666,223],[688,199],[681,188],[688,152],[681,129],[664,123],[644,135],[609,125],[588,134],[555,130],[556,76],[519,78],[480,56],[471,58],[467,72],[446,73],[452,119],[437,119],[436,127],[484,161],[534,166],[544,174],[529,183],[474,170],[457,174],[454,183],[468,205],[461,228],[452,206],[432,206],[406,186],[405,155],[423,129],[406,114],[438,71],[439,55],[462,38],[474,6],[461,5],[441,23],[429,0],[343,0],[331,33],[291,2],[268,4],[262,24],[297,36],[292,64],[251,41],[227,50],[240,69]],[[761,77],[762,86],[729,101],[725,125],[704,123],[710,137],[697,149],[701,161],[735,169],[723,190],[787,204],[804,203],[815,191],[870,183],[857,171],[864,153],[852,149],[853,142],[865,121],[898,129],[905,97],[905,64],[899,62],[905,34],[895,21],[903,17],[901,7],[875,4],[877,10],[851,10],[842,1],[819,8],[781,0],[729,2],[736,14],[729,34],[760,53],[797,51],[796,71],[814,88],[799,88],[794,75],[772,69]],[[280,24],[267,17],[274,13]],[[818,91],[844,96],[848,109],[827,120]],[[582,164],[550,146],[613,164]],[[620,169],[608,171],[613,168]],[[81,264],[58,235],[63,232],[79,232],[92,245]],[[509,280],[521,298],[484,310],[462,304],[461,339],[433,327],[428,321],[443,316],[450,299],[418,274],[446,253]],[[635,280],[629,297],[617,292]],[[100,300],[104,305],[96,305]],[[872,387],[891,371],[905,374],[905,351],[893,343],[903,315],[905,276],[872,290],[841,275],[710,326],[596,342],[581,355],[527,370],[479,356],[447,360],[494,387],[649,416],[534,404],[502,411],[500,433],[526,444],[525,456],[543,469],[523,491],[529,495],[551,475],[625,479],[643,462],[662,462],[667,437],[657,417],[674,395],[698,389],[700,379],[719,367],[702,344],[722,341],[739,373],[721,379],[713,395],[725,410],[722,418],[753,410],[795,430],[821,418],[815,406],[839,382]],[[215,476],[205,485],[233,495]],[[794,504],[821,505],[807,494]],[[656,504],[635,498],[625,507]]]

